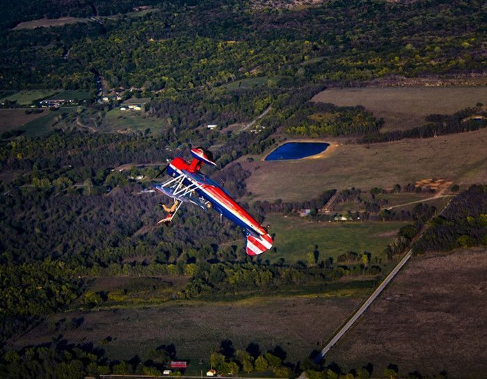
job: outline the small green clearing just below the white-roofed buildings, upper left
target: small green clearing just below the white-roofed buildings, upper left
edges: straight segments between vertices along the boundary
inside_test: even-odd
[[[106,113],[100,130],[111,133],[130,133],[150,129],[152,134],[158,134],[165,126],[163,120],[149,117],[141,111],[120,111],[115,108]]]

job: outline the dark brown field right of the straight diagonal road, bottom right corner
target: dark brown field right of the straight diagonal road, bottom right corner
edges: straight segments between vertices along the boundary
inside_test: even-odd
[[[330,353],[340,366],[397,364],[448,378],[486,378],[487,250],[413,257]]]

